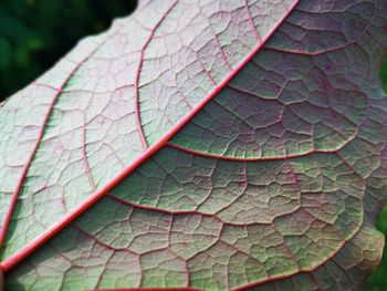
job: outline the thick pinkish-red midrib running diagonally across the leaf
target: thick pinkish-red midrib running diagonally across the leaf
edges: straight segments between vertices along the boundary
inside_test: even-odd
[[[4,272],[10,271],[14,266],[21,262],[25,257],[31,254],[34,250],[36,250],[40,246],[45,243],[50,238],[61,231],[64,227],[66,227],[70,222],[72,222],[75,218],[82,215],[85,210],[87,210],[91,206],[93,206],[100,198],[102,198],[105,194],[107,194],[113,187],[115,187],[119,181],[122,181],[128,174],[135,170],[139,165],[142,165],[145,160],[147,160],[153,154],[155,154],[158,149],[164,147],[169,138],[171,138],[186,123],[188,123],[210,100],[212,100],[230,81],[231,79],[261,50],[263,44],[268,41],[268,39],[275,32],[275,30],[282,24],[285,18],[293,11],[300,0],[294,1],[289,11],[279,20],[279,22],[273,27],[273,29],[262,39],[262,42],[259,43],[253,50],[242,60],[242,62],[237,65],[226,77],[224,80],[217,85],[207,96],[203,98],[189,114],[187,114],[181,121],[179,121],[176,125],[171,127],[158,142],[147,147],[134,162],[132,162],[127,167],[125,167],[122,172],[119,172],[112,180],[109,180],[106,185],[104,185],[101,189],[93,193],[88,196],[83,202],[72,209],[70,212],[64,215],[59,221],[56,221],[52,227],[46,229],[44,232],[39,235],[32,241],[27,243],[19,251],[7,258],[1,262],[1,268]],[[174,4],[175,6],[175,4]],[[174,7],[172,6],[172,7]],[[168,11],[170,12],[170,10]],[[163,17],[165,17],[167,13]],[[153,34],[151,34],[153,35]],[[148,42],[147,42],[148,43]],[[44,127],[44,126],[43,126]],[[42,127],[42,132],[43,132]],[[32,155],[33,156],[33,155]],[[27,172],[27,169],[25,169]]]

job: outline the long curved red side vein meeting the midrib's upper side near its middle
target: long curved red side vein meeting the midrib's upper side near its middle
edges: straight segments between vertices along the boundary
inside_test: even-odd
[[[149,45],[150,41],[155,37],[156,30],[160,27],[163,21],[166,19],[166,17],[169,14],[169,12],[176,7],[177,0],[169,7],[169,9],[164,13],[164,15],[159,19],[159,21],[156,23],[155,28],[151,30],[149,38],[146,40],[145,44],[142,48],[140,56],[139,56],[139,62],[136,71],[136,79],[135,79],[135,116],[136,116],[136,124],[137,124],[137,132],[139,135],[139,139],[142,141],[143,148],[146,149],[148,148],[148,143],[146,142],[144,131],[143,131],[143,125],[142,125],[142,119],[139,117],[139,97],[138,97],[138,81],[139,81],[139,74],[143,67],[144,63],[144,54],[146,48]]]

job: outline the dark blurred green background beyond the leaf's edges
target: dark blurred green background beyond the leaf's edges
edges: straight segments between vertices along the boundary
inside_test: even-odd
[[[85,35],[127,15],[134,0],[0,0],[0,101],[50,69]],[[387,92],[387,58],[380,77]],[[387,235],[387,207],[377,220]],[[387,290],[387,249],[363,290]]]

